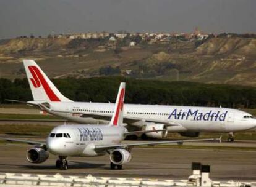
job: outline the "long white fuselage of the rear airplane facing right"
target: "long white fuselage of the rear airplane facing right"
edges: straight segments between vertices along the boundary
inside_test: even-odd
[[[69,112],[52,112],[54,115],[83,124],[92,123],[93,119],[77,113],[110,117],[114,110],[112,103],[50,102],[50,106],[51,109]],[[249,113],[231,108],[126,104],[124,117],[136,117],[142,121],[151,119],[180,124],[169,126],[169,132],[238,132],[256,126],[255,119],[250,118]],[[142,124],[132,125],[142,126]]]

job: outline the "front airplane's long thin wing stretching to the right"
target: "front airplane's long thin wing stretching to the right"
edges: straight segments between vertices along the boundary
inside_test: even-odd
[[[194,139],[194,140],[169,140],[169,141],[151,141],[151,142],[143,142],[143,143],[130,143],[130,144],[117,144],[117,145],[96,145],[95,151],[109,151],[117,148],[131,148],[134,146],[141,145],[161,145],[161,144],[183,144],[184,142],[193,142],[193,141],[221,141],[220,138],[208,138],[208,139]]]

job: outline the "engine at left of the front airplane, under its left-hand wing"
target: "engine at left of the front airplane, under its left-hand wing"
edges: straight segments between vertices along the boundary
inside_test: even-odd
[[[49,153],[42,148],[31,148],[27,152],[27,160],[31,163],[42,163],[45,162],[49,157]]]

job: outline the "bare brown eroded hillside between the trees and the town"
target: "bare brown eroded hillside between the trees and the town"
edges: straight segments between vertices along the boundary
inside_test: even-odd
[[[0,41],[0,77],[23,78],[33,58],[53,78],[124,74],[140,79],[256,86],[256,39],[173,39],[136,46],[124,40],[16,38]]]

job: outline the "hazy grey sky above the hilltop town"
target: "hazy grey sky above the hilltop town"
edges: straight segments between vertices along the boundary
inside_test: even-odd
[[[88,31],[256,33],[255,0],[0,0],[0,38]]]

